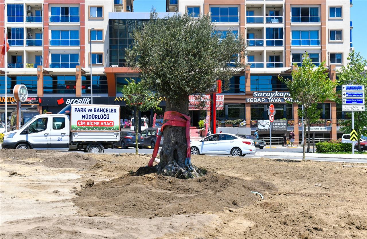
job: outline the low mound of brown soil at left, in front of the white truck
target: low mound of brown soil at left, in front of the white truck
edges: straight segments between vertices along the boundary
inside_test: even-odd
[[[44,161],[41,162],[41,164],[51,168],[84,169],[90,168],[96,162],[97,160],[95,158],[92,158],[85,154],[70,153],[47,157],[46,159],[44,159]]]

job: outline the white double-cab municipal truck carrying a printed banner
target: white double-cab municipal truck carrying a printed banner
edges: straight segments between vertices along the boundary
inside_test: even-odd
[[[4,135],[3,148],[103,152],[120,140],[120,106],[71,104],[66,114],[40,114]],[[65,108],[64,108],[65,109]]]

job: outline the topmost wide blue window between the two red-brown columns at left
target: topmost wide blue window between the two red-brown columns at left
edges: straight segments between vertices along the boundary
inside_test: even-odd
[[[50,22],[79,22],[79,7],[51,7]]]

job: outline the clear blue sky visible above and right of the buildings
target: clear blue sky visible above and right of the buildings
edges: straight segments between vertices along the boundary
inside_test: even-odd
[[[157,12],[166,11],[166,0],[135,0],[135,12],[150,12],[156,8]],[[350,20],[353,21],[352,42],[356,52],[367,59],[367,0],[353,0],[353,7],[350,8]]]

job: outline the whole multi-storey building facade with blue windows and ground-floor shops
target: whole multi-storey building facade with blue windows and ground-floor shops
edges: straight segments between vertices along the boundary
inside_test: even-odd
[[[326,62],[335,80],[336,70],[346,65],[352,47],[351,6],[350,0],[166,0],[167,12],[160,17],[175,12],[193,18],[210,14],[214,30],[223,37],[231,30],[247,39],[247,59],[242,60],[250,65],[233,76],[230,89],[221,94],[224,106],[217,110],[218,124],[242,119],[267,136],[269,130],[257,124],[268,119],[267,110],[273,103],[275,119],[287,120],[287,128],[278,134],[294,130],[300,137],[300,106],[286,103],[289,92],[278,76],[291,77],[292,63],[301,65],[302,54],[308,52],[315,65]],[[133,12],[133,0],[65,0],[62,4],[0,0],[0,15],[4,16],[0,27],[6,29],[11,45],[7,63],[0,55],[0,84],[5,83],[7,64],[8,95],[15,84],[23,83],[29,89],[31,99],[24,107],[55,113],[67,99],[90,97],[90,62],[93,103],[123,106],[121,88],[126,79],[139,81],[138,73],[125,66],[125,49],[133,44],[132,30],[148,21],[149,13]],[[0,120],[5,117],[4,93],[1,87]],[[10,105],[12,101],[8,98]],[[164,100],[162,106],[164,109]],[[316,137],[337,138],[341,134],[338,122],[346,115],[335,102],[318,107],[320,124],[312,128]],[[127,118],[131,110],[123,108],[122,117]],[[7,114],[12,110],[14,107]],[[152,118],[152,112],[143,114]],[[190,110],[192,125],[206,114]]]

